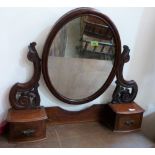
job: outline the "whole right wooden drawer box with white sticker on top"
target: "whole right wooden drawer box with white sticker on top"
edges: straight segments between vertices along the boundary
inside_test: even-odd
[[[113,131],[134,131],[141,128],[143,112],[136,103],[108,104],[103,122]]]

